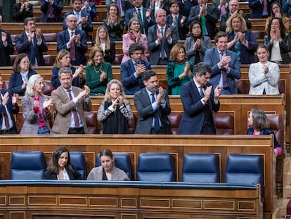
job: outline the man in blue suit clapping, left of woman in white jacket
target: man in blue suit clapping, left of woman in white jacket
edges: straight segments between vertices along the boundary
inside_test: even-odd
[[[207,49],[204,61],[212,67],[210,83],[222,87],[221,94],[238,94],[235,78],[240,79],[240,63],[235,52],[227,49],[226,32],[219,31],[214,37],[216,47]]]

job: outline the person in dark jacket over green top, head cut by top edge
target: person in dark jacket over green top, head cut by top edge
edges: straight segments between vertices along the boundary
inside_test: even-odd
[[[218,32],[216,23],[219,20],[219,10],[207,4],[207,0],[198,0],[198,6],[191,8],[187,22],[198,20],[202,24],[203,35],[214,38]]]

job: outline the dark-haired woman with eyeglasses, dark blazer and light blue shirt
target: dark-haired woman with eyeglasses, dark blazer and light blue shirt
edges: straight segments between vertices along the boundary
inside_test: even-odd
[[[27,82],[32,75],[37,74],[32,70],[30,58],[27,54],[19,54],[13,64],[13,73],[9,79],[9,90],[11,94],[25,95]]]

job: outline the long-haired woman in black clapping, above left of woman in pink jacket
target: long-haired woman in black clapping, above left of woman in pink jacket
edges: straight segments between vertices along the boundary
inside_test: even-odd
[[[117,4],[108,6],[108,17],[103,20],[103,26],[108,29],[110,41],[122,41],[124,22],[120,18]]]

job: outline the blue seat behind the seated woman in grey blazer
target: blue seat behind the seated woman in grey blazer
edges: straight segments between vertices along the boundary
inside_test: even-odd
[[[129,179],[131,179],[131,161],[129,154],[113,153],[113,155],[115,157],[115,166],[120,170],[123,170],[129,177]],[[100,165],[101,165],[100,154],[98,154],[96,156],[95,167],[98,167]]]

